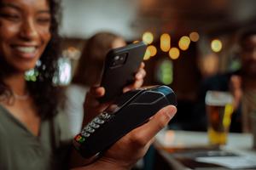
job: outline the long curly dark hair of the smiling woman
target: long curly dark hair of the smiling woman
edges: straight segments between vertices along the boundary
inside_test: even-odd
[[[58,71],[57,59],[60,57],[58,26],[61,14],[59,10],[59,0],[49,0],[49,9],[51,15],[51,38],[44,53],[40,57],[41,65],[37,68],[39,73],[37,81],[27,82],[29,93],[34,99],[35,105],[38,107],[38,113],[43,119],[56,114],[62,94],[61,88],[55,87],[52,82],[55,72]],[[0,63],[1,62],[4,65],[5,61],[3,61],[3,59],[0,60]],[[9,87],[3,83],[3,78],[9,74],[8,71],[4,71],[6,67],[3,68],[3,65],[0,65],[0,96],[2,96],[1,99],[9,99],[12,97],[13,93]]]

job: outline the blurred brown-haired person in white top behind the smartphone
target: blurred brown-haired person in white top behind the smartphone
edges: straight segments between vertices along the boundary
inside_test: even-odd
[[[98,32],[86,41],[73,81],[66,91],[67,101],[64,106],[64,112],[66,112],[70,120],[70,129],[73,135],[76,135],[81,130],[85,95],[90,87],[100,84],[104,60],[108,51],[125,45],[126,42],[123,37],[109,31]],[[142,63],[135,77],[137,79],[137,88],[142,86],[143,77],[146,75],[143,67]]]

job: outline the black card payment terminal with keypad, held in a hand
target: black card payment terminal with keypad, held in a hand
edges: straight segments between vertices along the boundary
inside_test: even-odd
[[[96,156],[166,105],[177,105],[176,95],[167,86],[127,92],[88,123],[73,145],[84,157]]]

